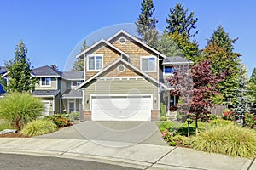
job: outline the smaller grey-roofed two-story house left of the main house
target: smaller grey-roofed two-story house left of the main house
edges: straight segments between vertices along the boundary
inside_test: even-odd
[[[38,77],[38,83],[32,94],[44,102],[44,115],[79,111],[82,103],[82,93],[73,88],[84,80],[84,72],[62,72],[46,65],[32,70],[32,75]]]

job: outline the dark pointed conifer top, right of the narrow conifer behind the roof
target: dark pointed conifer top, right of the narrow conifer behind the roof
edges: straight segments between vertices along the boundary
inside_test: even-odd
[[[166,29],[169,33],[184,34],[186,36],[195,37],[198,31],[192,33],[191,31],[196,29],[195,23],[197,18],[194,18],[194,12],[188,13],[188,9],[184,9],[181,3],[177,3],[174,8],[170,8],[170,13],[166,17],[166,22],[168,26]]]

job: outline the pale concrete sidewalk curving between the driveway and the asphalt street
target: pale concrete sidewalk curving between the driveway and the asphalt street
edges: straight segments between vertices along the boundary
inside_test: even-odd
[[[231,158],[154,144],[126,144],[128,146],[119,147],[123,145],[121,142],[106,140],[2,138],[0,153],[100,161],[140,169],[256,169],[253,159]]]

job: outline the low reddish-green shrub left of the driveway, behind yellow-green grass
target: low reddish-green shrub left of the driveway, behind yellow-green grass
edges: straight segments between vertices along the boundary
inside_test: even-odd
[[[55,114],[55,115],[51,115],[51,116],[45,116],[44,120],[50,120],[55,122],[55,124],[58,127],[67,127],[72,125],[72,123],[70,122],[70,120],[67,118],[67,116],[65,115],[61,115],[61,114]]]

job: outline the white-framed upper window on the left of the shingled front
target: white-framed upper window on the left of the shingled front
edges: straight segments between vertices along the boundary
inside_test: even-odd
[[[103,68],[103,55],[95,54],[88,56],[87,71],[100,71]]]

